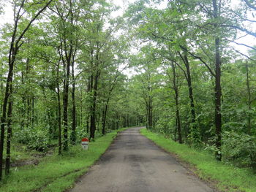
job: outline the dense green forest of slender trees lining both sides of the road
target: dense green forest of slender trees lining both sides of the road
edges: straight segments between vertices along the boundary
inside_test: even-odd
[[[124,4],[113,16],[120,7],[107,0],[12,1],[0,39],[0,180],[13,143],[61,155],[128,126],[256,169],[256,48],[239,41],[255,40],[255,1]]]

